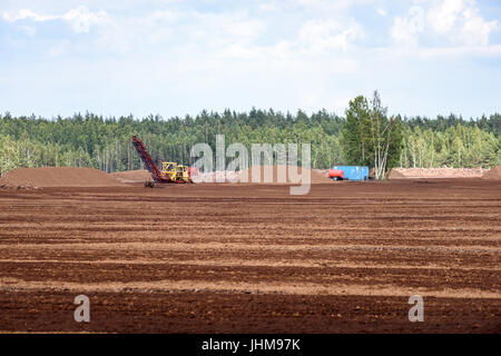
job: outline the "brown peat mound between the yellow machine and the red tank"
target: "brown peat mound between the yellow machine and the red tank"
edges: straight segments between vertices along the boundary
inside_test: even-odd
[[[265,170],[269,169],[271,171],[273,170],[273,180],[269,181],[269,184],[296,184],[297,181],[294,181],[294,179],[288,175],[288,168],[289,168],[289,166],[259,166],[261,176],[256,179],[256,177],[253,177],[253,168],[250,167],[250,168],[242,171],[238,176],[238,179],[239,179],[239,181],[244,181],[245,175],[247,175],[248,182],[266,184],[268,181],[265,180]],[[312,184],[322,184],[322,182],[328,184],[328,182],[331,182],[331,179],[328,178],[328,176],[323,175],[318,170],[303,169],[303,167],[296,167],[296,166],[292,166],[292,168],[294,169],[294,171],[297,171],[297,175],[299,175],[299,179],[301,179],[301,175],[305,174],[305,175],[310,175]],[[285,170],[285,177],[284,177],[285,179],[284,180],[278,179],[278,172],[281,169]],[[272,176],[269,176],[269,178],[272,178]],[[255,181],[255,180],[257,180],[257,181]]]

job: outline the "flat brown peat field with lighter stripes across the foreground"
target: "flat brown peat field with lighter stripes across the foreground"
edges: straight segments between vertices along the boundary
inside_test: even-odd
[[[288,192],[0,190],[0,332],[501,332],[501,182]],[[424,323],[407,319],[411,295]]]

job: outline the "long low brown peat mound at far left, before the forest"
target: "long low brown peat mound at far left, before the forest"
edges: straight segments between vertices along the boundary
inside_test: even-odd
[[[0,178],[7,187],[107,187],[121,182],[102,170],[76,167],[18,168]]]

